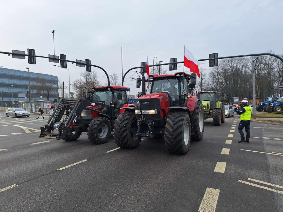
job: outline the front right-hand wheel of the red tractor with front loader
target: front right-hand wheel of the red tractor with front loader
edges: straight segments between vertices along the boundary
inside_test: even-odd
[[[87,138],[93,144],[105,144],[110,137],[111,123],[106,117],[92,119],[87,128]]]

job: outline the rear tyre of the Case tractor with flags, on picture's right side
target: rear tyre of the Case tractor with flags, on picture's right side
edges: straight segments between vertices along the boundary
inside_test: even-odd
[[[191,140],[200,141],[203,139],[204,131],[204,110],[203,104],[198,101],[197,107],[194,109],[193,117],[191,121]]]

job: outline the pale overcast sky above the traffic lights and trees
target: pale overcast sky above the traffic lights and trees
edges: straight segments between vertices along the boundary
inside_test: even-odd
[[[48,56],[53,54],[55,30],[55,55],[66,54],[74,61],[91,59],[109,75],[121,73],[121,46],[124,73],[146,61],[147,55],[150,65],[155,56],[164,63],[172,57],[183,61],[184,45],[197,59],[214,52],[219,57],[269,50],[283,53],[282,0],[0,2],[0,51],[31,48],[36,55]],[[0,54],[4,68],[29,67],[32,72],[57,75],[67,84],[68,70],[52,64],[56,63],[36,58],[32,65],[27,59]],[[85,71],[75,64],[67,66],[71,83]],[[201,67],[207,68],[207,63]],[[101,83],[106,83],[105,74],[95,70]],[[124,85],[135,94],[135,81],[129,80]]]

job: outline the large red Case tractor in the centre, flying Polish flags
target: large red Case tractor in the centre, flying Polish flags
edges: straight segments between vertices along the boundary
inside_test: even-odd
[[[124,149],[136,148],[142,137],[161,138],[169,152],[186,154],[191,140],[202,140],[204,111],[202,102],[190,93],[196,74],[183,72],[150,75],[150,94],[139,92],[136,107],[122,108],[114,124],[115,143]],[[137,79],[137,88],[140,87]],[[145,91],[145,83],[143,91]]]

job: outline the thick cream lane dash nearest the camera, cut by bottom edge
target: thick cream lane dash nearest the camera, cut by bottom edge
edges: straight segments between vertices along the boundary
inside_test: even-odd
[[[219,189],[215,188],[206,188],[206,191],[203,196],[203,200],[198,208],[200,212],[212,212],[215,211],[218,197],[219,197]]]

